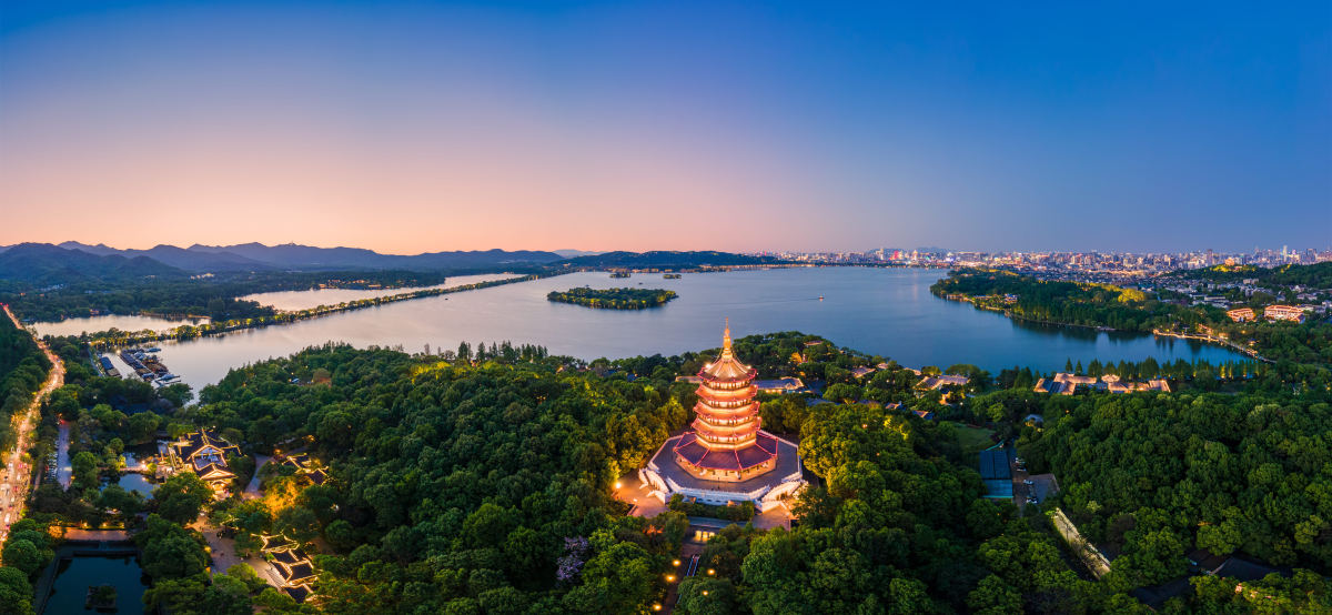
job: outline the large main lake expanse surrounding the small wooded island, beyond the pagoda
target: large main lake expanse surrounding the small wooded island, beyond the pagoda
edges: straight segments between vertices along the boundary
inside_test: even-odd
[[[606,273],[573,273],[163,343],[161,358],[197,391],[232,367],[326,341],[358,347],[401,345],[417,353],[426,343],[440,351],[457,349],[460,341],[509,339],[586,359],[670,355],[719,346],[725,317],[730,317],[735,337],[799,330],[912,367],[975,363],[991,371],[1014,365],[1051,370],[1062,369],[1070,358],[1083,363],[1092,358],[1243,358],[1183,339],[1018,323],[930,294],[930,285],[944,274],[938,269],[801,268],[611,280]],[[583,285],[665,288],[679,298],[649,310],[597,310],[546,301],[551,290]]]

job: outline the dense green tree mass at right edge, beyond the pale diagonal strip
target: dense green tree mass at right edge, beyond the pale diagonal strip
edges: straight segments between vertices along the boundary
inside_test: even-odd
[[[1273,395],[1116,395],[1074,402],[1019,450],[1054,469],[1064,510],[1122,550],[1131,584],[1179,576],[1191,546],[1332,568],[1332,407]],[[1050,402],[1068,406],[1066,402]]]

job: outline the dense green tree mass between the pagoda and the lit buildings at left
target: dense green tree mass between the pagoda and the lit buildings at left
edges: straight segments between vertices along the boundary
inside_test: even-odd
[[[297,489],[265,530],[322,535],[338,550],[321,559],[326,610],[645,607],[687,523],[621,516],[607,487],[683,423],[679,399],[661,382],[558,371],[554,359],[505,365],[506,347],[477,349],[500,358],[477,366],[308,350],[233,371],[202,391],[190,419],[250,441],[314,437],[310,454],[333,479]],[[290,383],[316,370],[329,385]],[[240,534],[264,527],[244,505],[226,516]],[[563,540],[593,535],[579,574],[559,580]]]

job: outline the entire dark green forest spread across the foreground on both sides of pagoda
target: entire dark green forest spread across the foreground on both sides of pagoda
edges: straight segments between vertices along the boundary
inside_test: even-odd
[[[678,570],[687,518],[627,516],[611,485],[685,427],[695,385],[674,378],[713,351],[583,365],[510,343],[414,357],[328,345],[233,370],[198,405],[185,406],[188,391],[147,391],[155,410],[125,415],[105,405],[120,381],[92,377],[69,339],[55,347],[73,366],[49,407],[76,426],[75,487],[44,486],[23,527],[128,523],[155,579],[151,604],[181,615],[637,614],[666,599]],[[735,350],[762,375],[823,381],[832,403],[766,398],[765,425],[799,439],[814,479],[795,505],[797,524],[718,532],[699,563],[710,574],[679,583],[675,612],[1148,612],[1131,592],[1184,578],[1195,547],[1295,570],[1248,582],[1244,594],[1192,576],[1195,591],[1166,612],[1332,608],[1321,576],[1332,536],[1327,391],[1297,397],[1255,382],[1231,395],[1039,395],[1018,383],[1030,374],[1006,370],[994,381],[956,365],[947,371],[971,378],[970,395],[944,397],[916,390],[919,377],[891,359],[799,333],[741,338]],[[871,378],[850,371],[878,362],[884,369]],[[1064,493],[1026,514],[982,499],[979,449],[962,431],[986,430],[910,407],[1019,434],[1032,470],[1054,471]],[[237,490],[256,473],[249,455],[280,451],[302,450],[328,479],[301,481],[269,463],[257,473],[262,497],[216,505],[188,473],[148,501],[99,491],[125,445],[194,427],[242,443],[248,457],[229,459]],[[53,431],[48,417],[39,454]],[[1092,580],[1075,563],[1047,506],[1063,506],[1115,556],[1107,576]],[[321,552],[317,598],[298,606],[246,567],[209,579],[204,536],[182,527],[201,510],[234,532],[240,552],[278,532]],[[32,576],[41,544],[17,540],[7,550],[32,551],[21,567]]]

